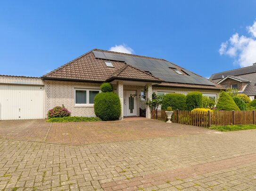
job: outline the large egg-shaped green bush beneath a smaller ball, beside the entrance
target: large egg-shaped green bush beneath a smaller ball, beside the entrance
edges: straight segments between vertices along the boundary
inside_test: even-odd
[[[101,92],[94,97],[94,112],[103,121],[117,120],[121,115],[121,103],[114,92]]]

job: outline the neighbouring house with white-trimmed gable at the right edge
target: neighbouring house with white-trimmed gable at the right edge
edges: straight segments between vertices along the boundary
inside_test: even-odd
[[[256,96],[256,63],[252,66],[213,74],[210,80],[226,88],[236,88],[251,100]]]

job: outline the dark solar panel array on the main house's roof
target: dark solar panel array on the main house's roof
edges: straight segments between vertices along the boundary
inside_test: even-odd
[[[186,69],[182,69],[182,71],[188,74],[189,76],[177,74],[173,71],[173,69],[177,69],[177,67],[168,61],[142,58],[118,53],[106,53],[100,51],[93,51],[93,53],[96,58],[111,61],[124,61],[125,63],[137,69],[150,72],[153,76],[156,76],[164,80],[165,82],[214,85],[206,78],[197,76]]]

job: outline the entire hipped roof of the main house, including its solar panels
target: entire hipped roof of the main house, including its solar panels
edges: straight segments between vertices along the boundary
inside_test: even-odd
[[[107,67],[111,61],[114,67]],[[166,70],[167,69],[167,70]],[[176,74],[173,69],[183,75]],[[171,74],[168,76],[168,74]],[[168,80],[166,80],[167,78]],[[225,89],[225,87],[183,69],[164,59],[93,49],[43,76],[44,79],[105,82],[114,79],[168,82],[179,87]],[[190,79],[189,81],[187,79]],[[187,83],[182,83],[187,82]],[[179,85],[178,85],[179,84]],[[183,85],[180,85],[183,84]],[[185,85],[184,85],[185,84]],[[187,85],[186,85],[187,84]],[[165,84],[165,86],[167,86]]]

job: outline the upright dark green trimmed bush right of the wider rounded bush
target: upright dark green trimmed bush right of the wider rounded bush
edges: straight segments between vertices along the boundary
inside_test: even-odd
[[[201,92],[190,92],[186,96],[187,108],[191,111],[194,108],[202,107],[203,95]]]

